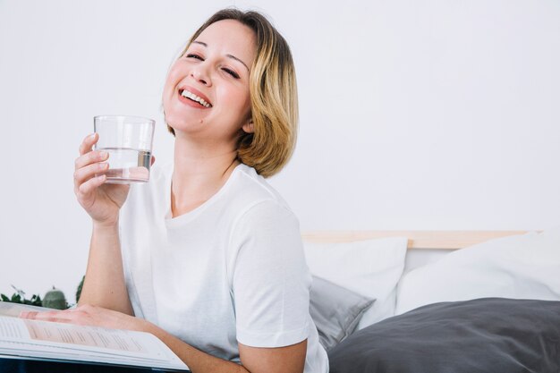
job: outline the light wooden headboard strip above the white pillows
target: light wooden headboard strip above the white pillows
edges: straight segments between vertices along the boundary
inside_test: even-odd
[[[301,234],[307,242],[353,242],[386,237],[407,237],[409,249],[458,250],[495,238],[527,231],[316,231]]]

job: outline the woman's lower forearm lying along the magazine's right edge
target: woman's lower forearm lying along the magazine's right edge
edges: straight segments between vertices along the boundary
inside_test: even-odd
[[[151,323],[146,323],[145,331],[156,335],[165,343],[185,364],[189,366],[192,373],[249,373],[249,370],[233,361],[223,360],[209,355],[206,352],[182,342],[174,335],[170,335],[162,328]]]

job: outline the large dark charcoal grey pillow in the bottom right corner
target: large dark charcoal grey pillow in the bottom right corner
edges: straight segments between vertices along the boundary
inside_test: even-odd
[[[557,373],[560,301],[486,298],[431,304],[354,333],[330,373]]]

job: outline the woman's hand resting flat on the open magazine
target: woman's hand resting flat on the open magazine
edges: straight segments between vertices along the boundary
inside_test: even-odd
[[[20,318],[137,331],[145,330],[147,323],[142,318],[89,304],[61,311],[23,311],[20,313]]]

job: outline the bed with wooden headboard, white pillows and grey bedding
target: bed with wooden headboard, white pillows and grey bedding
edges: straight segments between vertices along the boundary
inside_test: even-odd
[[[560,227],[303,241],[332,373],[560,372]]]

